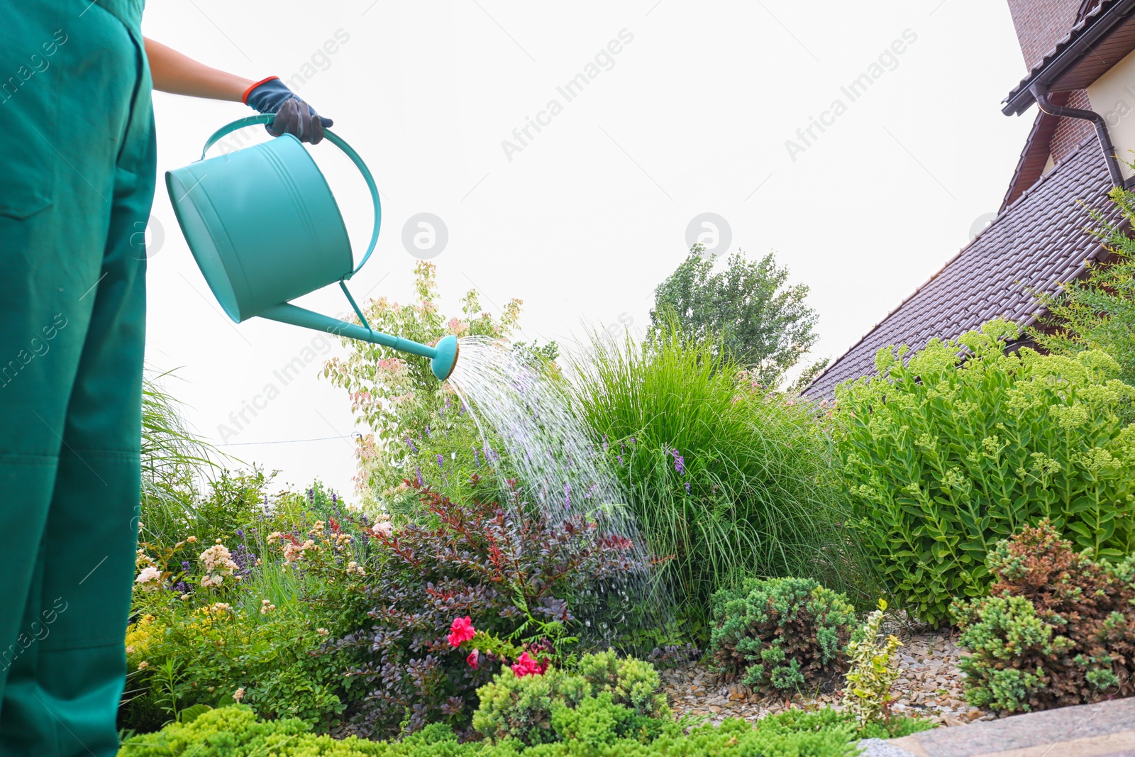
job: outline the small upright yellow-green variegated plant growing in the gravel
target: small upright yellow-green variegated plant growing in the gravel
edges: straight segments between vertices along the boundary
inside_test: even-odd
[[[871,613],[848,644],[850,670],[843,689],[843,704],[860,723],[872,723],[890,717],[891,687],[899,678],[894,650],[902,642],[889,634],[883,638],[883,612],[886,600],[878,600],[878,609]]]

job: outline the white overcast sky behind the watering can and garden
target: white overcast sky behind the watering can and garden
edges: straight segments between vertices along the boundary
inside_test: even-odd
[[[814,356],[835,358],[997,210],[1034,115],[999,109],[1025,72],[1001,0],[148,6],[148,36],[211,66],[254,79],[316,72],[300,93],[335,119],[384,193],[382,233],[356,296],[411,297],[415,259],[402,229],[429,212],[448,228],[435,258],[445,312],[474,285],[494,310],[520,297],[524,336],[541,340],[569,343],[585,325],[640,328],[654,287],[686,255],[691,219],[712,212],[728,221],[732,250],[774,251],[812,288]],[[600,57],[598,75],[566,101],[557,87],[621,32],[632,40]],[[873,69],[903,33],[901,54]],[[328,56],[336,34],[348,39]],[[851,102],[841,87],[865,73],[877,78]],[[502,142],[553,99],[562,112],[543,116],[543,132],[506,154]],[[793,160],[785,142],[835,100],[846,111],[825,116],[831,125],[814,127],[818,138]],[[154,109],[159,175],[194,160],[213,128],[251,115],[163,93]],[[370,224],[363,183],[334,146],[313,153],[359,254]],[[318,347],[318,334],[229,322],[158,187],[150,363],[177,369],[170,388],[215,441],[229,413],[276,385],[279,396],[227,439],[241,446],[225,449],[279,469],[281,483],[318,477],[350,497],[351,439],[262,444],[356,430],[346,395],[319,376],[322,355],[286,386],[274,375],[313,337]],[[345,306],[337,287],[301,304]]]

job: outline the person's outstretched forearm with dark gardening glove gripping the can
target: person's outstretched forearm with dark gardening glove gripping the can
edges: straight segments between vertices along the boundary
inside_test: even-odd
[[[303,142],[319,144],[323,128],[335,121],[316,112],[278,76],[252,79],[210,68],[173,48],[145,37],[145,54],[150,60],[153,89],[191,98],[243,102],[259,113],[275,116],[264,128],[269,134],[292,134]]]

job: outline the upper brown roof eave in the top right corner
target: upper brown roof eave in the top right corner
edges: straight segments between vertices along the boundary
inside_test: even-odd
[[[1043,84],[1049,91],[1082,90],[1100,78],[1135,49],[1135,16],[1132,15],[1132,5],[1130,0],[1100,0],[1099,5],[1090,7],[1086,12],[1083,12],[1081,19],[1068,33],[1057,41],[1056,47],[1045,53],[1040,62],[1033,66],[1025,78],[1020,79],[1020,83],[1006,96],[1003,100],[1007,103],[1003,109],[1006,115],[1020,113],[1032,106],[1035,102],[1032,95],[1027,95],[1016,106],[1008,103],[1027,90],[1037,74],[1048,68],[1060,53],[1098,23],[1104,24],[1110,31],[1105,31],[1101,40],[1092,43],[1093,48],[1088,53],[1081,54],[1076,61],[1061,65],[1061,70],[1045,75],[1046,81]],[[1110,14],[1110,11],[1116,12]],[[1095,33],[1098,31],[1092,32],[1092,34]]]

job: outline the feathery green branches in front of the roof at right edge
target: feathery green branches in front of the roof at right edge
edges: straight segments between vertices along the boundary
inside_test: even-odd
[[[1119,222],[1105,222],[1099,212],[1092,217],[1112,259],[1088,262],[1087,276],[1062,284],[1060,294],[1039,294],[1049,312],[1031,336],[1057,354],[1102,350],[1119,363],[1119,379],[1135,384],[1135,239],[1125,233],[1135,220],[1135,193],[1113,190],[1111,200],[1123,212]]]

